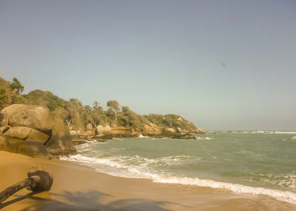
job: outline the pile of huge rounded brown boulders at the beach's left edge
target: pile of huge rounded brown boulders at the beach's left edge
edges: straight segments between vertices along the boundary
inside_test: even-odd
[[[42,159],[77,153],[67,126],[48,109],[20,104],[0,113],[0,150]]]

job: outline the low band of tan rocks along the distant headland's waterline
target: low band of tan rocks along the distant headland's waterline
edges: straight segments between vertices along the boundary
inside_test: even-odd
[[[73,142],[75,145],[83,144],[88,141],[108,141],[112,138],[136,138],[141,134],[152,138],[172,138],[172,139],[196,139],[193,133],[206,134],[201,129],[188,129],[182,130],[181,128],[162,128],[155,124],[150,123],[145,125],[144,129],[136,130],[134,128],[125,127],[110,127],[108,125],[99,125],[95,129],[91,124],[86,126],[89,129],[86,132],[82,130],[73,131],[70,133],[73,136]],[[86,141],[87,140],[87,141]]]

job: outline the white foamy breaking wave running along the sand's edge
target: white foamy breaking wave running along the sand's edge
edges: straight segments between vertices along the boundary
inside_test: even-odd
[[[276,198],[281,201],[296,204],[296,193],[290,191],[274,190],[262,187],[251,187],[241,184],[219,182],[211,179],[200,179],[192,177],[182,177],[182,176],[172,176],[165,173],[154,173],[147,172],[147,166],[157,165],[174,165],[182,164],[183,161],[198,160],[202,158],[196,158],[193,156],[169,156],[158,159],[148,159],[142,158],[140,156],[116,156],[109,159],[104,158],[93,158],[87,157],[80,154],[72,155],[70,157],[63,157],[62,160],[69,160],[74,162],[79,162],[90,167],[95,168],[97,171],[102,173],[107,173],[112,176],[121,177],[134,177],[134,178],[150,178],[153,182],[159,183],[176,183],[183,185],[196,185],[200,187],[211,187],[211,188],[221,188],[239,193],[249,193],[254,195],[267,195]],[[125,161],[122,163],[122,161]],[[130,164],[127,165],[127,161]],[[139,168],[140,167],[140,168]],[[142,168],[141,168],[142,167]],[[116,168],[116,169],[114,169]]]

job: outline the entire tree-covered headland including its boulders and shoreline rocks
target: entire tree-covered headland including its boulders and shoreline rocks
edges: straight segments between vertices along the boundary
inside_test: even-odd
[[[108,109],[95,101],[83,105],[49,91],[21,94],[24,86],[17,79],[0,77],[0,150],[42,159],[76,154],[74,145],[113,138],[196,139],[206,132],[175,114],[139,115],[117,101]]]

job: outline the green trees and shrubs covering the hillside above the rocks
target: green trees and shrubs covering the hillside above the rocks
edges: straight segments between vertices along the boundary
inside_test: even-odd
[[[175,114],[149,114],[139,115],[128,106],[120,106],[115,101],[108,101],[108,109],[104,110],[98,101],[92,106],[83,105],[80,100],[71,98],[69,101],[59,98],[49,91],[34,90],[22,95],[24,86],[17,79],[9,82],[0,77],[0,110],[12,104],[32,104],[47,107],[61,121],[73,128],[85,128],[88,123],[93,127],[110,125],[127,128],[143,129],[144,125],[153,123],[159,127],[196,129],[193,123],[188,122]]]

